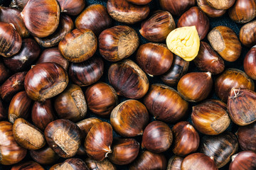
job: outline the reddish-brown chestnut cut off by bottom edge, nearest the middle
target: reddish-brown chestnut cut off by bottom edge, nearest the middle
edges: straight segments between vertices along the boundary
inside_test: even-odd
[[[164,154],[155,154],[153,152],[143,152],[133,163],[129,166],[129,170],[144,170],[144,169],[166,169],[166,158]]]

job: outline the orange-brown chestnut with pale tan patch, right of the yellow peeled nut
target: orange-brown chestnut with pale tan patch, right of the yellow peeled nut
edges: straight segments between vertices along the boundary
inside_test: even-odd
[[[208,40],[218,54],[228,62],[240,57],[242,46],[235,32],[226,26],[217,26],[208,33]]]

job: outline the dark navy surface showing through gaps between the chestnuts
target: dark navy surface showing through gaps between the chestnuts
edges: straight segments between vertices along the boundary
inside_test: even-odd
[[[1,3],[4,3],[4,6],[9,6],[10,4],[10,1],[11,0],[0,0],[0,4]],[[85,0],[86,1],[86,7],[91,5],[91,4],[102,4],[104,6],[106,6],[107,4],[107,0],[103,0],[103,1],[100,1],[100,0]],[[118,1],[118,0],[117,0]],[[149,18],[153,11],[156,11],[158,9],[161,9],[161,7],[159,6],[159,0],[152,0],[151,3],[149,4],[150,5],[150,14],[147,18]],[[75,17],[73,17],[73,19],[75,19]],[[230,20],[230,18],[228,17],[228,13],[225,13],[224,16],[220,17],[220,18],[209,18],[210,19],[210,29],[213,29],[215,28],[216,26],[228,26],[229,28],[232,28],[235,33],[239,36],[239,31],[240,31],[240,28],[243,26],[242,24],[239,24],[239,23],[235,23],[233,21]],[[178,21],[178,17],[175,17],[174,16],[174,20]],[[126,25],[124,23],[118,23],[116,21],[114,21],[114,25]],[[128,25],[128,26],[131,26],[132,28],[134,28],[138,35],[139,35],[139,40],[140,40],[140,45],[146,43],[146,42],[149,42],[147,41],[146,39],[144,39],[142,37],[142,35],[139,34],[139,29],[140,29],[140,26],[141,23],[137,23],[137,24],[134,24],[134,25]],[[206,41],[208,42],[207,40],[207,36],[206,38],[203,40],[203,41]],[[243,59],[246,55],[246,53],[248,52],[248,50],[250,50],[249,48],[247,47],[244,47],[242,46],[242,54],[240,56],[240,58],[238,60],[236,60],[235,62],[225,62],[225,69],[227,68],[237,68],[237,69],[241,69],[242,71],[244,71],[243,67],[242,67],[242,63],[243,63]],[[136,52],[134,52],[134,54],[136,54]],[[100,55],[100,53],[96,52],[95,55]],[[132,59],[134,60],[134,55],[132,55],[131,57],[129,57],[129,59]],[[135,61],[135,60],[134,60]],[[110,62],[107,62],[106,60],[104,60],[105,62],[105,72],[104,74],[102,75],[100,81],[105,81],[109,84],[109,81],[107,79],[107,70],[108,68],[110,67]],[[188,72],[200,72],[195,64],[193,62],[190,62],[190,65],[189,65],[189,69],[188,69]],[[213,75],[213,81],[215,80],[215,78],[218,77],[218,75]],[[160,77],[148,77],[149,78],[149,82],[150,84],[154,84],[154,83],[161,83],[161,84],[164,84],[163,81],[161,81]],[[176,89],[176,86],[172,86],[172,88]],[[82,87],[82,90],[85,91],[86,87]],[[213,86],[213,90],[211,91],[210,95],[208,96],[208,98],[216,98],[216,99],[219,99],[217,96],[215,96],[215,93],[214,93],[214,86]],[[125,101],[127,100],[127,98],[124,98],[124,97],[121,97],[119,96],[119,103],[121,103],[122,101]],[[139,100],[139,101],[142,101],[142,100]],[[189,113],[191,113],[191,108],[192,106],[195,106],[197,103],[190,103],[190,107],[189,107]],[[151,116],[151,115],[150,115]],[[88,111],[87,112],[87,116],[86,118],[90,118],[90,117],[97,117],[97,118],[100,118],[98,117],[97,115],[95,115],[94,113]],[[110,119],[109,118],[100,118],[101,120],[105,121],[105,122],[108,122],[110,123]],[[151,116],[151,121],[153,121],[154,118]],[[189,116],[189,118],[187,119],[190,123],[191,123],[191,118]],[[170,128],[172,128],[174,125],[173,124],[168,124],[170,126]],[[234,123],[230,123],[230,126],[229,128],[227,129],[227,131],[231,131],[233,133],[235,133],[236,131],[238,130],[238,126],[235,125]],[[114,137],[119,137],[119,135],[117,135],[117,133],[113,132],[113,135]],[[203,135],[199,133],[199,135],[202,137]],[[142,137],[134,137],[134,139],[136,139],[138,142],[141,142],[142,141]],[[1,140],[1,139],[0,139]],[[141,150],[142,151],[142,150]],[[168,161],[169,158],[171,156],[173,156],[174,154],[171,152],[171,149],[169,149],[168,151],[164,152],[165,156],[166,156],[166,160]],[[85,157],[79,157],[80,159],[84,159]],[[27,154],[26,158],[23,160],[23,161],[26,161],[28,159],[31,159],[31,157],[29,156],[29,154]],[[59,159],[58,162],[63,162],[64,159]],[[58,163],[56,162],[56,163]],[[228,164],[229,165],[229,164]],[[224,169],[228,169],[228,165],[224,166],[223,168],[221,168],[222,170]],[[51,165],[50,165],[51,166]],[[44,166],[46,169],[49,169],[50,166]],[[117,169],[128,169],[128,166],[129,165],[126,165],[126,166],[117,166]],[[0,165],[0,170],[8,170],[8,169],[11,169],[11,166],[1,166]]]

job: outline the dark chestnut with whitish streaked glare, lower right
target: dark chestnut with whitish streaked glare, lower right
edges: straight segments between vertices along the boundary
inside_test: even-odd
[[[204,136],[200,152],[212,158],[218,168],[225,166],[230,157],[238,151],[238,140],[231,132],[223,132],[216,136]]]

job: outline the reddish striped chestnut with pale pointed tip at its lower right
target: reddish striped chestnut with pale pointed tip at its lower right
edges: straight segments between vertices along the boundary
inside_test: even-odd
[[[85,151],[92,159],[102,161],[112,152],[112,141],[112,126],[106,122],[96,123],[85,138]]]

